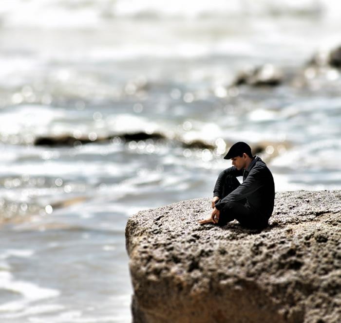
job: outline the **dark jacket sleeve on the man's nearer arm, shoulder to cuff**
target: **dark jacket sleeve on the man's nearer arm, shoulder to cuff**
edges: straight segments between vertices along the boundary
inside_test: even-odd
[[[253,167],[248,174],[247,178],[240,184],[234,191],[227,195],[227,197],[222,198],[217,203],[215,207],[221,210],[227,202],[237,201],[246,198],[253,192],[257,191],[264,185],[262,180],[262,168]]]

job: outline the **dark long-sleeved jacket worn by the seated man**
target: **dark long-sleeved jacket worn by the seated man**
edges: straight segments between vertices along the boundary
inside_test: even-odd
[[[221,192],[227,176],[243,176],[243,183],[222,198]],[[215,183],[213,195],[221,198],[215,203],[218,210],[223,209],[229,201],[240,201],[245,202],[245,206],[252,209],[256,215],[268,219],[274,207],[275,184],[265,162],[255,156],[244,170],[232,166],[222,171]]]

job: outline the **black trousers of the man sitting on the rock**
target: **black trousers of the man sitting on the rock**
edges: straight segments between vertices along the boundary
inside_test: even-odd
[[[226,197],[240,185],[238,179],[227,176],[223,188],[222,196]],[[220,210],[218,225],[224,226],[227,222],[236,219],[243,227],[261,229],[267,226],[267,220],[258,216],[247,204],[246,199],[227,202]]]

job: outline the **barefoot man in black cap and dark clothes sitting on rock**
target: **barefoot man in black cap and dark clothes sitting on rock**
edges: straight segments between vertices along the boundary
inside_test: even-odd
[[[199,223],[222,226],[236,219],[244,227],[265,228],[275,200],[270,170],[261,158],[252,156],[250,146],[243,142],[233,144],[224,159],[231,159],[232,167],[219,174],[213,190],[212,214]],[[236,179],[238,176],[243,176],[242,184]]]

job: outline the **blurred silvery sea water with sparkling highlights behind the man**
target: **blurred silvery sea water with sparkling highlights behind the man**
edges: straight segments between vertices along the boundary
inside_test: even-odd
[[[127,217],[211,196],[236,141],[277,191],[341,189],[340,71],[306,65],[340,6],[2,1],[0,322],[130,322]],[[231,86],[264,64],[280,85]]]

